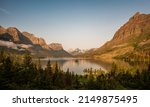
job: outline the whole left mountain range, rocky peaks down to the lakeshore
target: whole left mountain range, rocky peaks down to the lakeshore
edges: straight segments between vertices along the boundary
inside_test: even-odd
[[[15,27],[0,26],[0,48],[18,52],[30,52],[38,57],[71,57],[59,43],[47,44],[43,38],[38,38],[28,32],[20,32]]]

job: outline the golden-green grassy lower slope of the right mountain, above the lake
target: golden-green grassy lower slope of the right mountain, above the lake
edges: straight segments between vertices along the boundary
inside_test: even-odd
[[[102,54],[94,55],[95,58],[107,59],[112,61],[113,58],[132,58],[143,57],[146,58],[150,54],[150,35],[135,36],[128,43],[112,46]]]

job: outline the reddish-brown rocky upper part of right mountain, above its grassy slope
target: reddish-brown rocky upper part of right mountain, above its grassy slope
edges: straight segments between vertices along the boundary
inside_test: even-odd
[[[103,53],[119,46],[128,46],[137,42],[136,38],[144,38],[150,34],[150,14],[135,13],[127,23],[121,26],[113,38],[98,48],[97,53]],[[142,37],[143,36],[143,37]],[[147,37],[148,38],[148,37]],[[139,39],[140,41],[140,39]],[[133,48],[131,46],[130,48]],[[124,50],[127,51],[127,50]]]

